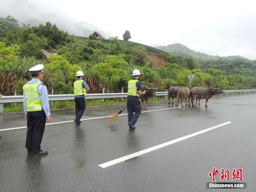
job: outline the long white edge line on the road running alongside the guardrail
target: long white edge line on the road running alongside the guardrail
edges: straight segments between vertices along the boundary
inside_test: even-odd
[[[253,97],[253,98],[255,98],[255,97]],[[243,99],[244,99],[244,98],[243,98]],[[242,99],[232,99],[232,100],[218,101],[218,102],[212,102],[212,103],[208,103],[208,104],[221,103],[221,102],[228,102],[228,101],[236,101],[236,100],[242,100]],[[204,104],[204,103],[203,103],[203,104]],[[202,104],[202,105],[203,105],[203,104]],[[142,111],[141,113],[148,113],[148,112],[154,112],[154,111],[163,111],[163,110],[177,109],[177,108],[182,108],[182,107],[172,107],[172,108],[164,108],[164,109],[156,109],[156,110]],[[119,116],[123,116],[123,115],[128,115],[128,113],[120,114]],[[109,117],[111,117],[111,116],[112,116],[112,115],[101,116],[101,117],[92,117],[92,118],[81,119],[80,121],[94,120],[94,119],[102,119],[102,118],[109,118]],[[71,122],[74,122],[74,121],[73,121],[73,120],[70,120],[70,121],[61,121],[61,122],[54,122],[54,123],[46,123],[45,125],[56,125],[56,124],[71,123]],[[24,129],[24,128],[27,128],[27,126],[0,129],[0,132],[1,132],[1,131],[16,130],[16,129]]]

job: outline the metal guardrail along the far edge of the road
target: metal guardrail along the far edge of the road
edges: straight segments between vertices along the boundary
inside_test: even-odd
[[[246,93],[251,92],[255,93],[256,89],[248,89],[248,90],[224,90],[224,94],[228,95],[228,93]],[[156,92],[156,96],[167,96],[168,92]],[[221,94],[222,96],[222,94]],[[108,99],[108,98],[125,98],[127,97],[127,93],[99,93],[99,94],[87,94],[86,95],[86,100],[87,99]],[[74,100],[74,95],[73,94],[62,94],[62,95],[49,95],[49,101],[65,101],[65,100]],[[2,96],[0,98],[0,114],[4,113],[4,104],[7,103],[19,103],[23,102],[23,96]]]

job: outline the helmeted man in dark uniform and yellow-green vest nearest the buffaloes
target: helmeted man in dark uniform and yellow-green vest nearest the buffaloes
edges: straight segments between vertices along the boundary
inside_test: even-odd
[[[127,111],[128,111],[128,125],[130,129],[136,129],[135,124],[141,114],[141,105],[139,96],[146,94],[141,91],[141,84],[138,81],[140,78],[140,71],[138,69],[133,70],[132,80],[128,81],[128,93],[127,93]]]

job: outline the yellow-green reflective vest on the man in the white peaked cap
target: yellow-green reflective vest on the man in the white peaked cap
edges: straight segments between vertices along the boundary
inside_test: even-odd
[[[34,83],[26,83],[23,86],[27,111],[42,111],[42,102],[37,90],[40,84],[42,84],[42,82],[38,80]]]

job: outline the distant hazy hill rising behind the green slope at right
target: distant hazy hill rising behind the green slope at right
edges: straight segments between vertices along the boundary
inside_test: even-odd
[[[212,55],[208,55],[206,53],[193,51],[190,48],[188,48],[180,43],[175,43],[175,44],[171,44],[168,46],[156,46],[156,48],[166,51],[168,53],[184,55],[184,56],[191,56],[191,57],[194,57],[197,59],[218,59],[218,58],[223,58],[223,59],[228,59],[228,60],[246,59],[246,58],[238,56],[238,55],[226,56],[226,57],[212,56]]]

